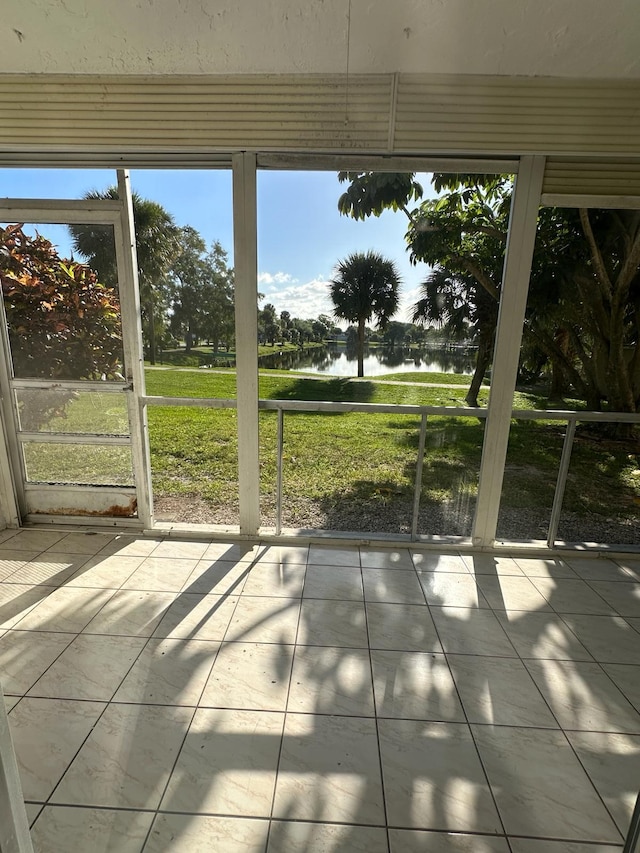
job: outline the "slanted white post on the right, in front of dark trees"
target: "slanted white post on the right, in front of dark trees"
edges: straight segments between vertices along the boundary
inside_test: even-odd
[[[498,525],[544,166],[544,157],[522,157],[511,199],[489,411],[471,534],[473,544],[479,546],[493,545]]]

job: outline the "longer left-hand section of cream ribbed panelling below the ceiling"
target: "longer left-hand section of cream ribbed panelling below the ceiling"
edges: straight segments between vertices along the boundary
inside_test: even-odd
[[[389,76],[0,76],[0,148],[386,150],[391,98]]]

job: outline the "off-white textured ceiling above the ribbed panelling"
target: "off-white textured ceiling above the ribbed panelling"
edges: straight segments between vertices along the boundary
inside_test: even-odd
[[[638,0],[29,0],[0,73],[638,78],[639,45]]]

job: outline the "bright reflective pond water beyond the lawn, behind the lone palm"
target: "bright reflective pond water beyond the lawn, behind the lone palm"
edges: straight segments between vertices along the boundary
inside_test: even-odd
[[[384,376],[388,373],[473,373],[473,350],[432,349],[422,353],[384,347],[365,348],[364,375]],[[304,370],[330,376],[356,376],[358,359],[355,349],[336,344],[304,352],[276,351],[260,358],[260,367],[277,370]]]

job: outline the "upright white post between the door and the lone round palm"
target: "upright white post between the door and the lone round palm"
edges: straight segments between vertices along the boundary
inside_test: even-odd
[[[233,155],[233,265],[240,533],[260,526],[256,156]]]

